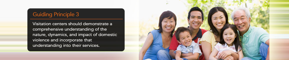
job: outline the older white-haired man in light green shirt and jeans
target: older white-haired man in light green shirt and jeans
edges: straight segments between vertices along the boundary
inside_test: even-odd
[[[245,7],[240,7],[232,12],[231,17],[239,31],[245,57],[243,59],[269,60],[269,33],[263,28],[250,26],[250,11]]]

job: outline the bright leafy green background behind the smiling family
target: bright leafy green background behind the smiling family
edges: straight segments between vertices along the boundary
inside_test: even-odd
[[[204,12],[204,21],[201,29],[209,30],[207,17],[211,8],[223,7],[228,13],[228,21],[233,24],[231,13],[235,8],[247,7],[251,13],[251,26],[262,27],[268,33],[269,31],[269,0],[160,0],[154,1],[140,1],[139,3],[139,40],[144,41],[148,32],[154,28],[158,29],[158,21],[160,14],[166,10],[170,10],[177,16],[176,28],[188,26],[188,11],[192,7],[199,7]]]

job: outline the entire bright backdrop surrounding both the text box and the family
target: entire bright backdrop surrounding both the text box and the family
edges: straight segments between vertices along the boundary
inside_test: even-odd
[[[198,6],[204,11],[200,28],[209,29],[207,14],[220,6],[230,14],[236,7],[248,7],[251,25],[270,34],[270,59],[289,57],[288,0],[17,0],[0,1],[0,60],[137,60],[146,35],[158,28],[158,18],[170,10],[177,16],[176,27],[188,26],[187,13]],[[125,10],[125,50],[123,52],[29,52],[27,50],[27,10],[29,8],[123,8]],[[270,22],[270,23],[269,23]],[[270,27],[270,28],[269,28]]]

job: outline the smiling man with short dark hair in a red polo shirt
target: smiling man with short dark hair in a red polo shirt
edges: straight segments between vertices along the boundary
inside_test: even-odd
[[[203,34],[207,32],[205,29],[200,29],[200,26],[203,24],[204,21],[204,13],[199,7],[193,7],[191,10],[188,12],[188,23],[189,26],[188,28],[190,29],[192,33],[192,41],[196,42],[199,44],[201,52],[203,53],[202,46],[199,43],[200,39],[202,38]],[[177,47],[180,44],[177,42],[176,36],[173,35],[172,41],[169,46],[169,55],[171,55],[173,58],[175,58],[176,53],[174,51],[177,49]],[[187,58],[188,56],[194,56],[193,53],[187,53],[187,54],[181,54],[181,58]],[[201,55],[199,57],[199,60],[205,60],[204,55]]]

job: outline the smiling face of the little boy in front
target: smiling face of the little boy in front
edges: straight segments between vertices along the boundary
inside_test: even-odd
[[[181,32],[179,34],[180,37],[180,41],[178,41],[180,44],[184,45],[184,46],[190,46],[192,43],[192,36],[190,35],[189,32],[185,31],[185,32]]]

